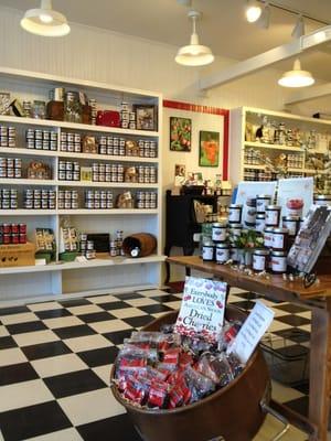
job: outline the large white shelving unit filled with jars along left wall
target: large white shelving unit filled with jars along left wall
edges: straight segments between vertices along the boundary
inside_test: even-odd
[[[159,287],[161,284],[161,263],[164,260],[161,247],[161,132],[162,132],[162,96],[158,93],[116,87],[102,83],[76,80],[58,76],[44,75],[33,72],[15,71],[0,67],[0,89],[9,92],[12,97],[21,100],[47,100],[49,90],[53,87],[65,87],[67,90],[82,90],[89,98],[97,100],[100,109],[118,110],[121,101],[129,104],[156,105],[158,108],[158,130],[126,130],[121,128],[100,127],[65,121],[40,120],[19,118],[15,116],[0,116],[0,126],[13,126],[17,129],[15,148],[0,147],[0,157],[21,158],[24,165],[40,159],[52,168],[52,180],[30,179],[0,179],[0,189],[19,190],[19,209],[0,211],[0,223],[28,224],[28,238],[34,240],[36,227],[53,228],[56,235],[58,249],[60,227],[63,218],[70,224],[86,233],[110,233],[124,230],[124,235],[132,233],[150,233],[158,238],[156,254],[145,258],[97,258],[86,262],[52,262],[46,266],[0,268],[0,302],[17,301],[19,299],[41,299],[61,297],[84,292],[99,292],[109,289],[126,289],[141,287]],[[41,128],[57,133],[57,150],[34,150],[25,147],[25,130]],[[73,153],[60,151],[61,132],[78,132],[81,135],[118,136],[132,140],[154,140],[158,143],[158,158],[138,158],[122,155]],[[157,168],[157,184],[139,183],[109,183],[109,182],[82,182],[60,181],[57,179],[58,161],[73,159],[82,165],[92,162],[122,163],[125,166],[132,164],[150,164]],[[22,192],[24,189],[114,189],[114,193],[125,190],[154,191],[158,193],[157,209],[24,209]]]

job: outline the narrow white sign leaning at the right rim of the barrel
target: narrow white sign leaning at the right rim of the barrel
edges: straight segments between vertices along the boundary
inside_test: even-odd
[[[228,347],[242,363],[247,363],[264,333],[274,320],[274,311],[257,301],[233,344]]]

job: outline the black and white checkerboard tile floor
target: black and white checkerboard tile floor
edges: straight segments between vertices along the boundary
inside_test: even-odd
[[[110,367],[132,330],[178,309],[180,299],[149,290],[0,309],[0,440],[140,441],[113,398]],[[246,310],[255,299],[239,290],[231,294]],[[264,302],[276,312],[268,336],[274,348],[307,353],[309,311]],[[307,412],[305,384],[288,388],[274,381],[274,396]],[[275,424],[268,420],[256,441],[269,440],[279,430]],[[307,439],[295,429],[288,437],[284,440]]]

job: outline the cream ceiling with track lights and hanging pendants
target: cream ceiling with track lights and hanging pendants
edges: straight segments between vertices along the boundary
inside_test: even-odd
[[[305,11],[331,23],[330,0],[277,0],[291,9]],[[40,0],[0,0],[0,6],[26,10]],[[245,60],[269,49],[290,42],[296,15],[273,9],[269,30],[248,24],[244,17],[245,0],[193,0],[194,9],[203,12],[197,32],[201,43],[213,52],[234,60]],[[177,0],[53,0],[53,8],[68,21],[104,28],[125,34],[154,40],[175,46],[188,44],[191,25],[188,9]],[[307,32],[322,24],[306,20]],[[331,80],[331,52],[302,57],[302,67],[318,77]],[[290,62],[276,67],[287,68]]]

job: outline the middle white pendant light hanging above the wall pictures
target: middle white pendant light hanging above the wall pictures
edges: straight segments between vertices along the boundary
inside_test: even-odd
[[[201,13],[197,11],[190,11],[188,13],[189,19],[192,20],[193,33],[191,41],[188,46],[183,46],[178,51],[175,62],[183,66],[204,66],[213,63],[214,55],[210,47],[199,44],[199,36],[196,33],[196,20],[201,18]]]

